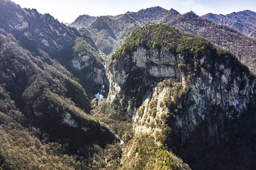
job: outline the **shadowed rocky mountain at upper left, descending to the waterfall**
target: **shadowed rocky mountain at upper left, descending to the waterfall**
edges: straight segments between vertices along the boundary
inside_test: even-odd
[[[81,80],[88,92],[95,93],[101,85],[104,70],[101,62],[106,56],[98,51],[84,30],[80,33],[50,14],[22,9],[10,0],[0,0],[0,28],[13,34],[20,45],[32,53],[38,55],[41,49],[58,60]]]

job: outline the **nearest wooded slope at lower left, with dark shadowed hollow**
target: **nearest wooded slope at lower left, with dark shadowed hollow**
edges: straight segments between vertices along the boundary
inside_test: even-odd
[[[2,29],[0,44],[0,168],[87,169],[109,166],[105,156],[117,159],[120,144],[88,114],[78,79]]]

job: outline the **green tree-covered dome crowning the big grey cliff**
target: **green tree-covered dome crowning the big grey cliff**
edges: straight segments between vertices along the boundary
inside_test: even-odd
[[[216,45],[202,37],[181,32],[165,24],[148,24],[132,33],[130,38],[112,55],[112,60],[123,55],[131,55],[137,47],[168,50],[176,55],[184,52],[203,53],[206,48],[216,48]],[[228,50],[218,47],[218,52],[225,54]]]

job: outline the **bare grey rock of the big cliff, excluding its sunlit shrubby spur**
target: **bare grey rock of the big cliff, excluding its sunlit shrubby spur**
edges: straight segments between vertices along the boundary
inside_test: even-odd
[[[170,123],[175,133],[179,134],[178,140],[184,142],[202,122],[212,123],[212,114],[217,117],[214,124],[209,125],[209,139],[221,138],[224,132],[219,127],[224,121],[239,119],[248,111],[249,104],[255,101],[255,78],[238,63],[234,68],[234,57],[223,57],[227,60],[209,51],[208,54],[188,59],[186,54],[175,56],[168,51],[139,48],[133,55],[110,64],[108,102],[126,107],[128,113],[134,116],[134,128],[138,132],[143,129],[138,124],[144,124],[146,120],[145,115],[141,117],[137,114],[137,109],[145,107],[142,112],[147,114],[150,109],[148,104],[156,100],[156,112],[166,110],[166,105],[162,107],[160,103],[172,95],[172,86],[163,85],[162,80],[175,80],[186,91],[175,106],[169,108],[170,112],[178,110],[172,113]],[[189,73],[188,69],[194,70]],[[154,82],[157,82],[156,86]]]

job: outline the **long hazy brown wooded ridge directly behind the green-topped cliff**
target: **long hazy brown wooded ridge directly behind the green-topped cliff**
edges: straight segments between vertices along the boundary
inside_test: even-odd
[[[160,7],[153,7],[138,12],[128,12],[116,20],[101,16],[92,23],[88,32],[99,50],[109,55],[116,51],[132,32],[152,22],[164,23],[179,30],[202,36],[229,49],[254,73],[256,72],[256,41],[254,38],[248,38],[227,26],[215,24],[197,16],[194,12],[180,14],[174,9],[168,11]]]

